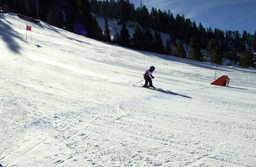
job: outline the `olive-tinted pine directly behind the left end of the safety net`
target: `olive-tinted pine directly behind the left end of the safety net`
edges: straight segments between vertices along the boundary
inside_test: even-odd
[[[219,65],[222,64],[221,52],[219,52],[219,48],[217,47],[217,42],[214,38],[212,38],[208,43],[208,46],[206,48],[206,56],[210,57],[211,63],[217,63]]]

